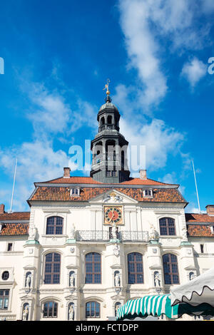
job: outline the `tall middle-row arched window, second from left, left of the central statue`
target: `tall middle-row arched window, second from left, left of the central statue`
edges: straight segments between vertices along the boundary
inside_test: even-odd
[[[101,284],[101,254],[86,254],[86,284]]]

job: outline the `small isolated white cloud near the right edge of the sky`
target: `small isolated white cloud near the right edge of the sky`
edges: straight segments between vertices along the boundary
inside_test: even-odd
[[[188,63],[184,64],[181,76],[184,76],[190,83],[190,86],[194,88],[200,79],[205,76],[206,72],[207,66],[195,57]]]

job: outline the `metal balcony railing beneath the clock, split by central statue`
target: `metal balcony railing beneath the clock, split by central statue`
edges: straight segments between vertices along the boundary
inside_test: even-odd
[[[111,232],[106,230],[78,230],[77,241],[103,242],[113,239]],[[117,239],[121,242],[148,242],[148,232],[123,231],[117,233]]]

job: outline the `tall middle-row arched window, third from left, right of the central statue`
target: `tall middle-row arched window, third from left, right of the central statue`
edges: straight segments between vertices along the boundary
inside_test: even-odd
[[[128,254],[128,284],[143,284],[143,256],[139,252]]]

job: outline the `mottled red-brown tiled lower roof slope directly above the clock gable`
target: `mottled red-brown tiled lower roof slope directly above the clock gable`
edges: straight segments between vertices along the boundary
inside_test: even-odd
[[[132,197],[135,200],[142,202],[183,202],[186,201],[180,195],[176,188],[153,190],[153,197],[143,197],[143,191],[140,188],[131,187],[113,187],[115,190]],[[41,186],[36,189],[36,192],[31,195],[29,200],[37,201],[88,201],[112,190],[112,187],[82,187],[79,197],[70,195],[69,187],[46,187]]]

